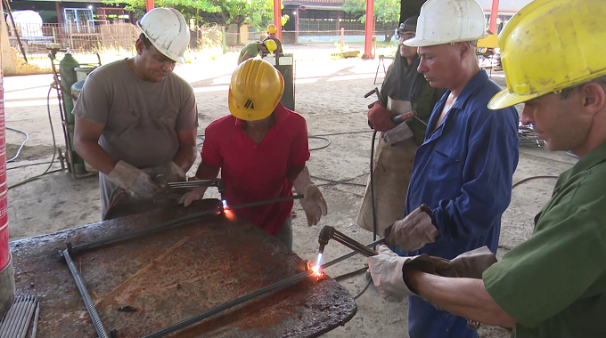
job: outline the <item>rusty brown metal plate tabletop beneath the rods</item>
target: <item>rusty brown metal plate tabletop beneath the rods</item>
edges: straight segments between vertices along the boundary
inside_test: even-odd
[[[41,302],[38,337],[95,337],[78,288],[58,254],[73,245],[143,229],[216,206],[204,200],[11,243],[17,294]],[[73,257],[102,322],[140,337],[304,270],[305,261],[265,231],[217,214],[176,229]],[[120,306],[137,308],[120,312]],[[356,302],[330,278],[295,286],[202,321],[171,337],[314,337],[345,324]]]

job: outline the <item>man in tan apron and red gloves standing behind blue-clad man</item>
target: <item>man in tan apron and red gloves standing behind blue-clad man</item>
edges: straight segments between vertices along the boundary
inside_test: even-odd
[[[374,130],[381,132],[381,138],[373,158],[374,194],[371,194],[369,178],[356,223],[363,229],[373,231],[376,221],[378,234],[404,216],[414,153],[425,140],[425,124],[433,106],[445,92],[444,89],[432,88],[417,71],[421,61],[417,49],[402,44],[416,34],[417,20],[417,16],[410,17],[397,28],[399,53],[389,66],[381,86],[381,94],[387,97],[387,107],[376,102],[368,111],[368,120]],[[399,125],[393,123],[393,117],[411,110],[416,112],[419,119],[412,118]]]

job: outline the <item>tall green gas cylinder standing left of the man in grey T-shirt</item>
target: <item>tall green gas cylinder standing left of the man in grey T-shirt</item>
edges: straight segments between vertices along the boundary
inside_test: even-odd
[[[78,81],[76,70],[74,68],[79,67],[80,64],[70,52],[66,52],[61,62],[59,62],[59,74],[61,75],[61,89],[63,96],[63,111],[65,112],[65,119],[68,125],[68,135],[70,137],[70,145],[72,151],[68,154],[68,161],[73,164],[74,173],[86,173],[84,160],[79,157],[74,149],[74,123],[75,117],[72,113],[74,109],[74,101],[71,97],[71,85]]]

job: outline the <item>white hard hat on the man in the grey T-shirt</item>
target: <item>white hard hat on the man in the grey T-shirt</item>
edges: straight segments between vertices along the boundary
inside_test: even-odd
[[[158,7],[145,13],[136,25],[158,52],[170,60],[185,63],[183,54],[189,44],[190,33],[183,14],[174,8]]]

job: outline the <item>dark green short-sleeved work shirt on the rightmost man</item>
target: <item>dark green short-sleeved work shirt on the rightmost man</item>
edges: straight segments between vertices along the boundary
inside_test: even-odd
[[[606,143],[560,175],[532,237],[483,280],[513,337],[606,337]]]

